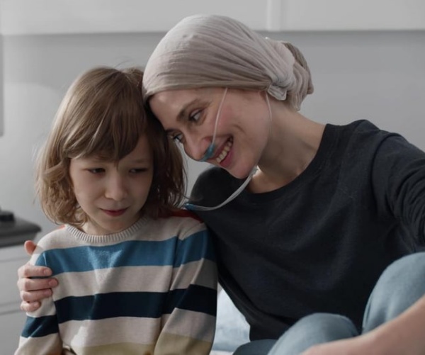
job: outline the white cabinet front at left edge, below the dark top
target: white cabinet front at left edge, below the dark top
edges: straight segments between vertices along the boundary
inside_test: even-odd
[[[0,354],[13,354],[26,319],[19,309],[18,267],[29,257],[21,245],[0,248]]]

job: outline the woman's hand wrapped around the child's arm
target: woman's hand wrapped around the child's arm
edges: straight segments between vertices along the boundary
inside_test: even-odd
[[[26,241],[24,247],[31,255],[35,249],[34,242]],[[44,266],[25,264],[18,269],[18,288],[21,294],[21,310],[33,312],[40,308],[40,300],[52,295],[52,287],[57,286],[55,278],[32,278],[50,276],[52,271]]]

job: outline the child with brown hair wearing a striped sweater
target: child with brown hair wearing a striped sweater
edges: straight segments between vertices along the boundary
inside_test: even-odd
[[[16,354],[208,354],[216,266],[202,222],[177,208],[183,161],[145,113],[142,72],[98,67],[64,97],[36,191],[64,227],[31,264],[59,281],[28,313]]]

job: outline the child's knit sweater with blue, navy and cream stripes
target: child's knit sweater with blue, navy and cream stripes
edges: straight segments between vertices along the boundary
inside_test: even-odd
[[[50,232],[30,259],[59,286],[27,314],[16,355],[208,354],[217,271],[205,225],[144,217],[112,235]]]

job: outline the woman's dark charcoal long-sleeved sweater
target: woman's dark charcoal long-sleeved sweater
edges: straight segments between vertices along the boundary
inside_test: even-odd
[[[218,205],[242,182],[213,167],[191,202]],[[425,153],[367,120],[327,125],[316,157],[290,184],[196,213],[251,340],[278,338],[312,312],[346,315],[360,329],[385,267],[424,246]]]

